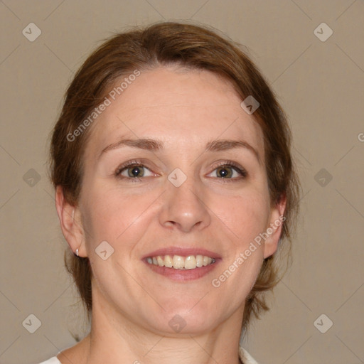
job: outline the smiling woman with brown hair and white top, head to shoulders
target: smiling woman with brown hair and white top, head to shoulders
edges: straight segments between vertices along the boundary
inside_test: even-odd
[[[262,75],[213,31],[157,23],[102,44],[51,141],[91,331],[44,363],[256,363],[239,342],[291,237],[289,146]]]

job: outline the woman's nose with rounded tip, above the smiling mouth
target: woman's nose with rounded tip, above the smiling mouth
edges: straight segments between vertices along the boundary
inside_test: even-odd
[[[182,232],[203,230],[210,225],[208,205],[193,178],[187,178],[179,187],[173,186],[169,181],[166,181],[166,185],[167,191],[163,194],[163,206],[159,216],[161,225]]]

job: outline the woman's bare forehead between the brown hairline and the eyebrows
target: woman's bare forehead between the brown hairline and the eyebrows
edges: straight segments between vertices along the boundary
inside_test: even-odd
[[[110,105],[92,127],[92,154],[122,136],[158,138],[180,152],[207,140],[244,139],[264,155],[259,124],[240,107],[231,83],[214,73],[156,68],[142,72],[115,100],[108,98]]]

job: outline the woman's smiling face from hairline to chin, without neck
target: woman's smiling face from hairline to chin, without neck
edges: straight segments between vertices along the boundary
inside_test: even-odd
[[[92,124],[78,206],[93,310],[164,335],[241,319],[278,234],[251,243],[282,213],[259,125],[208,71],[143,72],[110,100]]]

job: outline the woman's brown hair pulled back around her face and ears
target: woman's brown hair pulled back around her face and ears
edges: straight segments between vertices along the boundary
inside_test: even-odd
[[[269,195],[272,203],[287,199],[282,240],[288,249],[298,214],[299,180],[291,159],[291,132],[287,118],[259,70],[240,49],[240,45],[219,36],[215,31],[187,23],[164,22],[146,28],[132,28],[102,43],[83,63],[65,94],[62,112],[55,124],[50,146],[50,174],[54,186],[63,186],[65,199],[76,205],[82,187],[82,155],[88,127],[73,141],[69,135],[80,127],[120,77],[135,70],[149,70],[163,65],[181,65],[190,69],[209,70],[225,77],[242,97],[252,95],[259,108],[254,116],[264,134],[264,154]],[[73,134],[74,135],[74,134]],[[267,310],[262,292],[279,282],[277,255],[264,259],[259,276],[247,297],[242,328],[251,314]],[[88,314],[92,310],[92,287],[88,258],[65,252],[65,265],[73,275]]]

